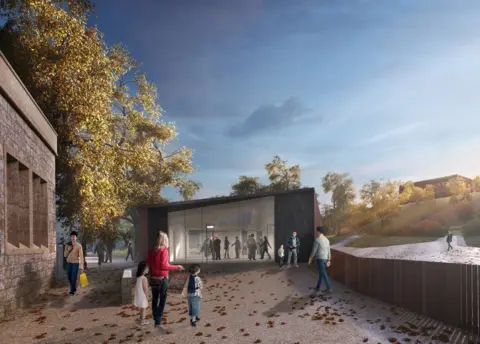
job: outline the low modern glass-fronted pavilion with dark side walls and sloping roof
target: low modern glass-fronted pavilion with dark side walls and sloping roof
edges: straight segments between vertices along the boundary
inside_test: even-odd
[[[252,196],[217,197],[210,199],[151,204],[139,208],[141,225],[137,233],[139,258],[146,256],[155,243],[159,230],[170,238],[170,260],[177,263],[212,262],[213,239],[220,239],[220,258],[229,261],[248,260],[247,240],[253,235],[259,246],[268,240],[268,253],[276,257],[279,245],[292,232],[302,242],[299,261],[308,260],[313,230],[319,223],[315,190],[305,188]],[[235,242],[240,244],[236,257]],[[228,240],[228,249],[225,242]],[[260,258],[257,249],[256,259]],[[268,255],[265,254],[265,258]]]

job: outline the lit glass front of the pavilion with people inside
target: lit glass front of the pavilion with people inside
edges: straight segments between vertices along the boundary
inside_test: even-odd
[[[264,258],[268,254],[274,258],[274,231],[274,197],[170,212],[170,260],[180,264],[248,260],[255,247],[248,240],[252,234],[255,258],[261,258],[264,247]]]

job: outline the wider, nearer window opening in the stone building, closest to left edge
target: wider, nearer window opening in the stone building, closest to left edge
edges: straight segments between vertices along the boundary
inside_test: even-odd
[[[30,247],[30,171],[7,154],[7,242]]]

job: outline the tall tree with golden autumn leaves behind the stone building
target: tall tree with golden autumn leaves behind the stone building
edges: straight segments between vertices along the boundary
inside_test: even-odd
[[[22,0],[2,9],[1,49],[58,133],[57,215],[101,231],[166,186],[191,198],[192,152],[176,151],[156,87],[121,45],[89,27],[87,0]]]

